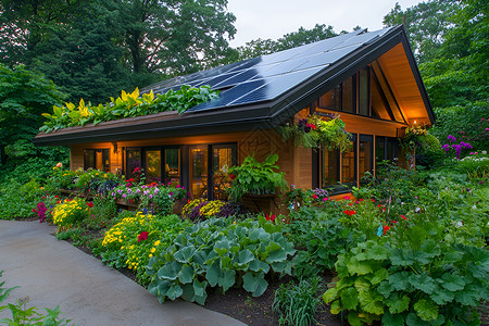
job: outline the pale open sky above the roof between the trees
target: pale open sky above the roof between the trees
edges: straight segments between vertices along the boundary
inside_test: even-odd
[[[377,30],[396,2],[405,10],[421,0],[228,0],[237,28],[229,45],[236,48],[258,38],[275,40],[315,24],[331,25],[336,33],[351,32],[358,25]]]

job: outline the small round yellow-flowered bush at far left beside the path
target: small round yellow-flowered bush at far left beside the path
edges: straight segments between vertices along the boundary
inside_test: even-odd
[[[70,228],[79,224],[89,214],[87,202],[80,198],[73,200],[65,199],[54,206],[52,211],[52,223],[58,225],[60,229]]]

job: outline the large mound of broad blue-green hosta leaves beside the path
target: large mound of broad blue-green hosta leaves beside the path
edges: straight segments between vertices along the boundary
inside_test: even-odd
[[[235,285],[259,297],[268,286],[268,273],[290,274],[288,258],[296,250],[280,228],[263,217],[241,222],[211,218],[193,225],[151,258],[148,290],[160,302],[181,297],[204,304],[208,287],[225,292]]]

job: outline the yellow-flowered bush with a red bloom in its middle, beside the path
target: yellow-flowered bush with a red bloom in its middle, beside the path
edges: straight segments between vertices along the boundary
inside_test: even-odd
[[[151,215],[138,212],[123,218],[105,233],[95,253],[111,266],[127,267],[138,280],[148,281],[146,265],[151,256],[164,251],[190,223],[177,215]]]

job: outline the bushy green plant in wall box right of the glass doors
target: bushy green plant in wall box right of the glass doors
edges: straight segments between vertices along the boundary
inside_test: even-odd
[[[278,172],[277,154],[268,155],[263,163],[259,163],[254,156],[247,156],[240,166],[229,167],[229,176],[233,184],[229,196],[239,201],[246,193],[269,195],[287,189],[288,184],[283,172]]]

